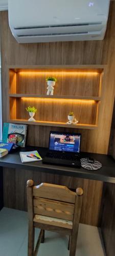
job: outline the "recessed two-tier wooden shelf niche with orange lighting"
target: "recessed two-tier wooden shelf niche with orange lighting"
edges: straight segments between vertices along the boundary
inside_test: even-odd
[[[9,67],[9,121],[96,129],[103,70],[104,66],[94,65]],[[54,96],[46,95],[48,76],[57,78]],[[34,123],[28,122],[28,105],[37,108]],[[70,111],[79,124],[66,124]]]

